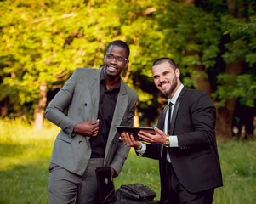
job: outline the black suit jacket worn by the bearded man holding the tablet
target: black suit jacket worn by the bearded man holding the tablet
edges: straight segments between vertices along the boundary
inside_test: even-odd
[[[168,106],[163,109],[158,120],[158,127],[162,130],[167,109]],[[179,182],[191,193],[222,186],[215,121],[216,110],[208,94],[184,87],[174,106],[169,133],[177,135],[179,147],[168,150]],[[168,172],[162,148],[162,144],[147,144],[143,156],[159,160],[161,198],[165,200]]]

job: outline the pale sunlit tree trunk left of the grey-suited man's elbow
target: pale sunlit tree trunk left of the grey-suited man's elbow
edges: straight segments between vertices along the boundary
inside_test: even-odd
[[[47,95],[47,82],[41,82],[39,99],[37,101],[35,111],[34,111],[35,127],[37,129],[41,129],[43,127],[44,110],[45,110],[46,100],[47,100],[46,95]]]

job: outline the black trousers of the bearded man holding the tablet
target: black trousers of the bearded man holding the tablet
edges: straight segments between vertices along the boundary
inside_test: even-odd
[[[167,161],[168,162],[168,161]],[[168,170],[168,204],[211,204],[214,189],[191,193],[179,183],[171,163],[167,164]]]

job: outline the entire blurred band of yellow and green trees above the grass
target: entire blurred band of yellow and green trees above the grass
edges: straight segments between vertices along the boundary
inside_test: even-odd
[[[156,124],[167,99],[151,64],[174,59],[181,81],[217,108],[216,133],[253,135],[256,3],[253,0],[3,0],[0,2],[0,114],[40,128],[44,109],[77,67],[99,68],[107,44],[131,49],[125,82],[139,94],[137,125]]]

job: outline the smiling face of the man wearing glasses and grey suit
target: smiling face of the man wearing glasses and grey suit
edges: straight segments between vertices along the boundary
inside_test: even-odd
[[[107,57],[108,54],[114,56],[114,58],[109,59]],[[124,60],[123,62],[120,62],[119,60],[117,60],[117,57],[122,57],[123,59],[126,59],[126,50],[117,45],[111,45],[111,47],[105,53],[104,57],[105,77],[115,79],[120,76],[123,69],[127,68],[129,61]]]

